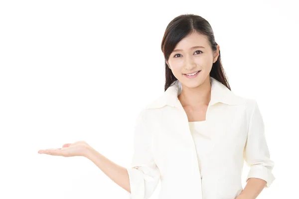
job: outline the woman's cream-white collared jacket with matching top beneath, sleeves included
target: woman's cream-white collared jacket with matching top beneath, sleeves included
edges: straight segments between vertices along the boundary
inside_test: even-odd
[[[259,178],[270,187],[275,180],[257,101],[210,80],[205,122],[188,122],[179,81],[138,115],[127,167],[131,199],[149,199],[158,182],[159,199],[234,199],[243,189],[244,161],[246,181]]]

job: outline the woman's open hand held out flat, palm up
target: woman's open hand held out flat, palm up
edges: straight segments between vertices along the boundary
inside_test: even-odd
[[[39,150],[38,153],[63,157],[85,156],[89,148],[91,147],[85,141],[78,141],[64,144],[62,148]]]

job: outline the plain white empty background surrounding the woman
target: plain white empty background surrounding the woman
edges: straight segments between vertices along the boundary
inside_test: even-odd
[[[296,3],[1,0],[0,199],[129,197],[90,160],[37,151],[85,140],[128,167],[137,114],[164,91],[164,30],[185,13],[210,22],[232,91],[263,114],[276,180],[258,199],[297,198]]]

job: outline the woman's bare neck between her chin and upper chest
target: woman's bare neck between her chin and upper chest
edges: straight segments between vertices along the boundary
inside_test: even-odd
[[[182,92],[178,96],[182,106],[208,105],[211,100],[210,77],[198,87],[188,88],[182,85]]]

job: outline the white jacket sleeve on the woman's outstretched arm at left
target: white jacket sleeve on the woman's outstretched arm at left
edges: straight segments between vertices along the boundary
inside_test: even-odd
[[[127,171],[130,179],[131,199],[149,199],[157,187],[160,173],[151,155],[149,136],[142,112],[137,117],[133,160]]]

